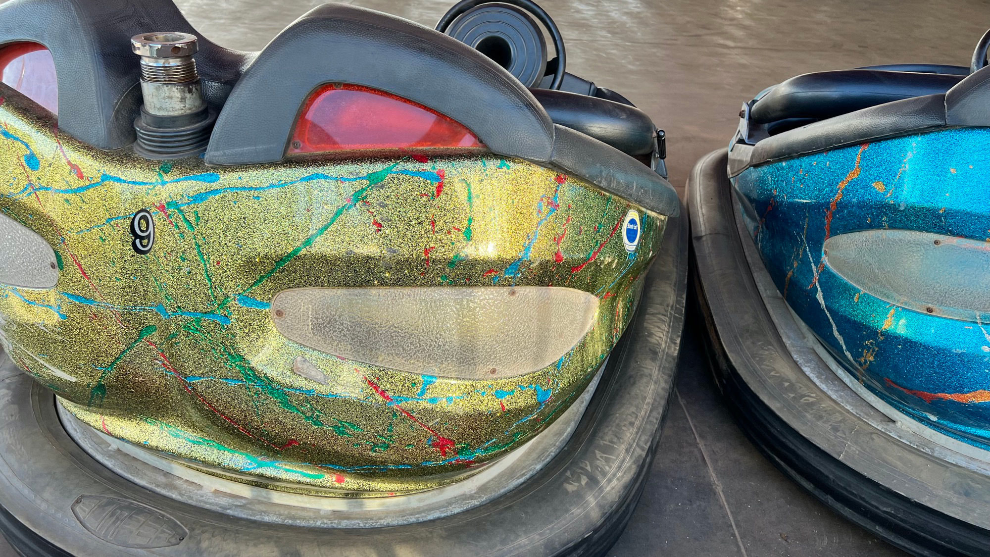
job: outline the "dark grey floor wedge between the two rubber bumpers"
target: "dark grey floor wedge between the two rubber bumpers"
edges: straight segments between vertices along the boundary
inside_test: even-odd
[[[723,405],[693,321],[643,499],[609,555],[904,556],[763,458]]]

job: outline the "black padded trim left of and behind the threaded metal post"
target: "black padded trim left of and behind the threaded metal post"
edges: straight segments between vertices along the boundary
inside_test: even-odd
[[[0,45],[40,43],[51,52],[58,129],[100,149],[134,142],[141,69],[131,37],[154,31],[199,37],[196,62],[208,95],[225,95],[247,59],[200,37],[171,0],[12,0],[0,6]]]

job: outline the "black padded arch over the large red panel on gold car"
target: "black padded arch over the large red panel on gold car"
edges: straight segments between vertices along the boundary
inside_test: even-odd
[[[207,163],[281,160],[303,101],[328,82],[418,102],[506,157],[545,161],[552,150],[543,107],[487,56],[401,18],[326,4],[279,33],[247,67],[217,119]]]

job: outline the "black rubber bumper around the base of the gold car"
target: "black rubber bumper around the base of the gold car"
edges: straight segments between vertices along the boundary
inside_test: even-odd
[[[574,433],[545,468],[493,501],[378,528],[258,522],[175,501],[87,455],[62,428],[52,394],[0,353],[0,530],[32,557],[602,554],[628,522],[656,451],[684,323],[687,241],[686,215],[670,219],[639,310]],[[108,522],[87,529],[73,508],[94,497],[140,506],[144,517],[107,512]]]

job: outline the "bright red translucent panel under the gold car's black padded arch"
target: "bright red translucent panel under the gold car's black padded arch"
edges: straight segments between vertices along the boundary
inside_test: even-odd
[[[303,107],[289,153],[479,149],[463,125],[413,101],[360,85],[324,85]]]

